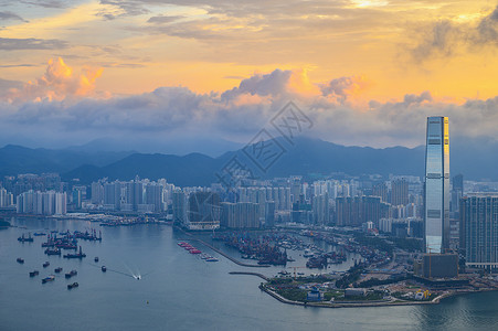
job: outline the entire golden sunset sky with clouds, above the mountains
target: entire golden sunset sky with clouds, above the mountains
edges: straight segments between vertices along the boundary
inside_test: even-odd
[[[495,141],[497,52],[497,1],[0,0],[0,145],[244,143],[288,102],[347,146]]]

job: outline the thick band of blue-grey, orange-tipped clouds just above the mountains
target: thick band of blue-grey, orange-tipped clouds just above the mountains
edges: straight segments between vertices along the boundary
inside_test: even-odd
[[[449,116],[454,137],[498,138],[498,97],[453,104],[424,92],[379,103],[363,99],[362,90],[371,84],[365,77],[338,77],[318,84],[309,82],[305,71],[275,70],[242,79],[223,93],[159,87],[139,95],[100,98],[94,92],[100,73],[75,74],[61,58],[51,61],[42,77],[0,96],[0,142],[81,145],[125,136],[245,142],[267,128],[269,119],[289,100],[312,120],[308,136],[338,143],[422,145],[426,117],[434,115]]]

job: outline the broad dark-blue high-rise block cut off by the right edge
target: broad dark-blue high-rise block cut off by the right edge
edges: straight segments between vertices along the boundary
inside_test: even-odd
[[[474,193],[460,200],[460,249],[466,265],[498,267],[498,195]]]

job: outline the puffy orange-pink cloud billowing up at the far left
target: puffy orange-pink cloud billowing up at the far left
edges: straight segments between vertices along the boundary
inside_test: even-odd
[[[45,73],[35,81],[24,84],[22,89],[12,89],[9,95],[14,100],[62,100],[74,96],[89,96],[95,89],[95,81],[103,68],[83,68],[75,74],[73,68],[59,57],[51,58]]]

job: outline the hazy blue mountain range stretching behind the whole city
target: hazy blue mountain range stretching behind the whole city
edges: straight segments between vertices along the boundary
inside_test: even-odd
[[[278,157],[275,157],[273,164],[262,167],[263,170],[243,149],[210,157],[202,153],[177,156],[74,147],[61,150],[30,149],[9,145],[0,148],[0,175],[59,172],[66,181],[78,179],[86,184],[100,178],[130,180],[138,175],[151,180],[166,178],[168,182],[180,186],[209,185],[216,182],[216,173],[227,173],[225,171],[234,160],[261,179],[288,175],[312,179],[337,172],[350,175],[423,175],[424,172],[424,147],[346,147],[305,137],[295,139],[293,143],[284,138],[278,138],[276,142],[279,146]],[[498,180],[496,142],[452,142],[452,175],[463,173],[466,179]]]

